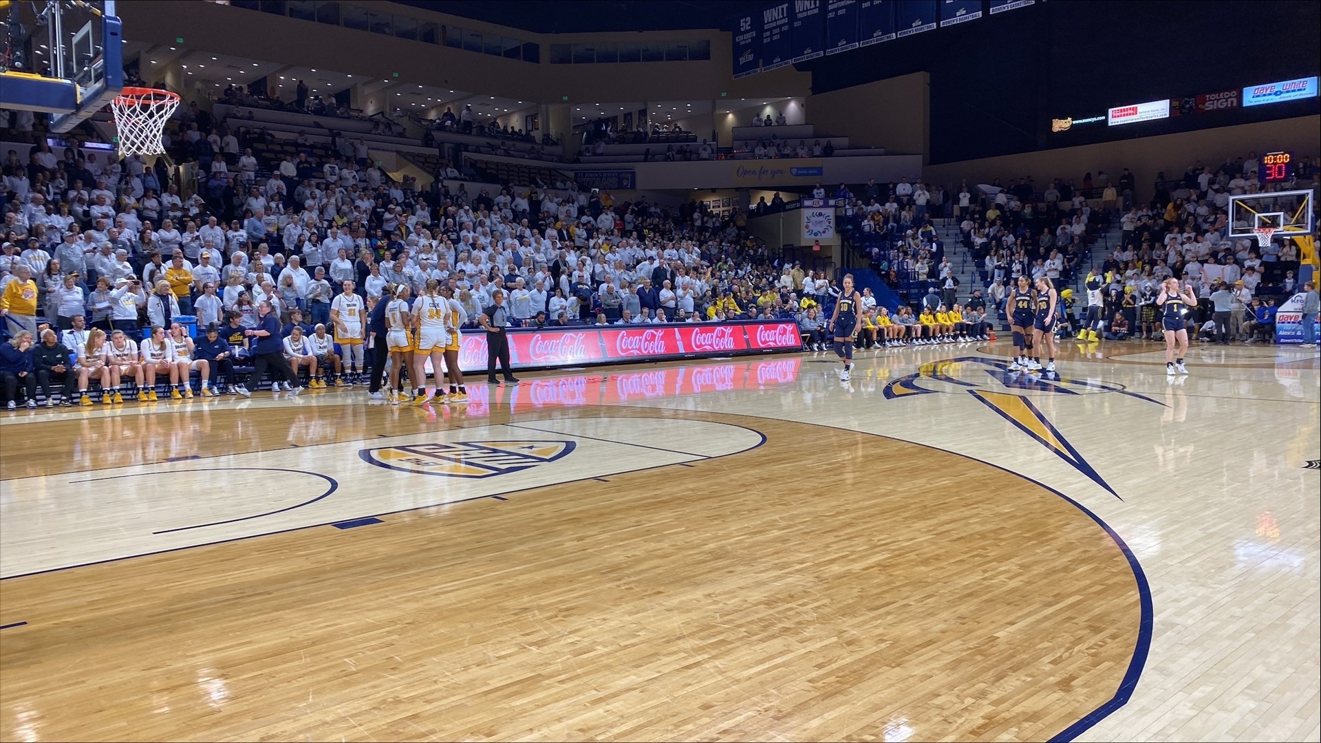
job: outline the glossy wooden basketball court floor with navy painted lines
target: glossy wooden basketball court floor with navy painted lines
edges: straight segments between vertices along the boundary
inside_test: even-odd
[[[0,739],[1317,739],[1316,357],[1111,345],[0,415]]]

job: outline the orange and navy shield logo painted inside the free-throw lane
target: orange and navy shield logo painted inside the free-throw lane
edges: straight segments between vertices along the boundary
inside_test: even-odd
[[[481,480],[532,469],[568,456],[573,442],[449,442],[362,450],[369,464],[441,477]]]

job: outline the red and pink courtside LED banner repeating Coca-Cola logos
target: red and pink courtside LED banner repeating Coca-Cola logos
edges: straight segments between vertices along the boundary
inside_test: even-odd
[[[571,325],[509,331],[510,362],[514,369],[700,358],[801,348],[802,336],[791,320]],[[486,370],[485,332],[465,332],[458,349],[460,369],[465,373]]]

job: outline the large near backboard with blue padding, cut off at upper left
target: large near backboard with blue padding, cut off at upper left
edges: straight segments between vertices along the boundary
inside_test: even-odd
[[[0,1],[0,104],[50,114],[66,132],[124,87],[124,42],[114,0]]]

